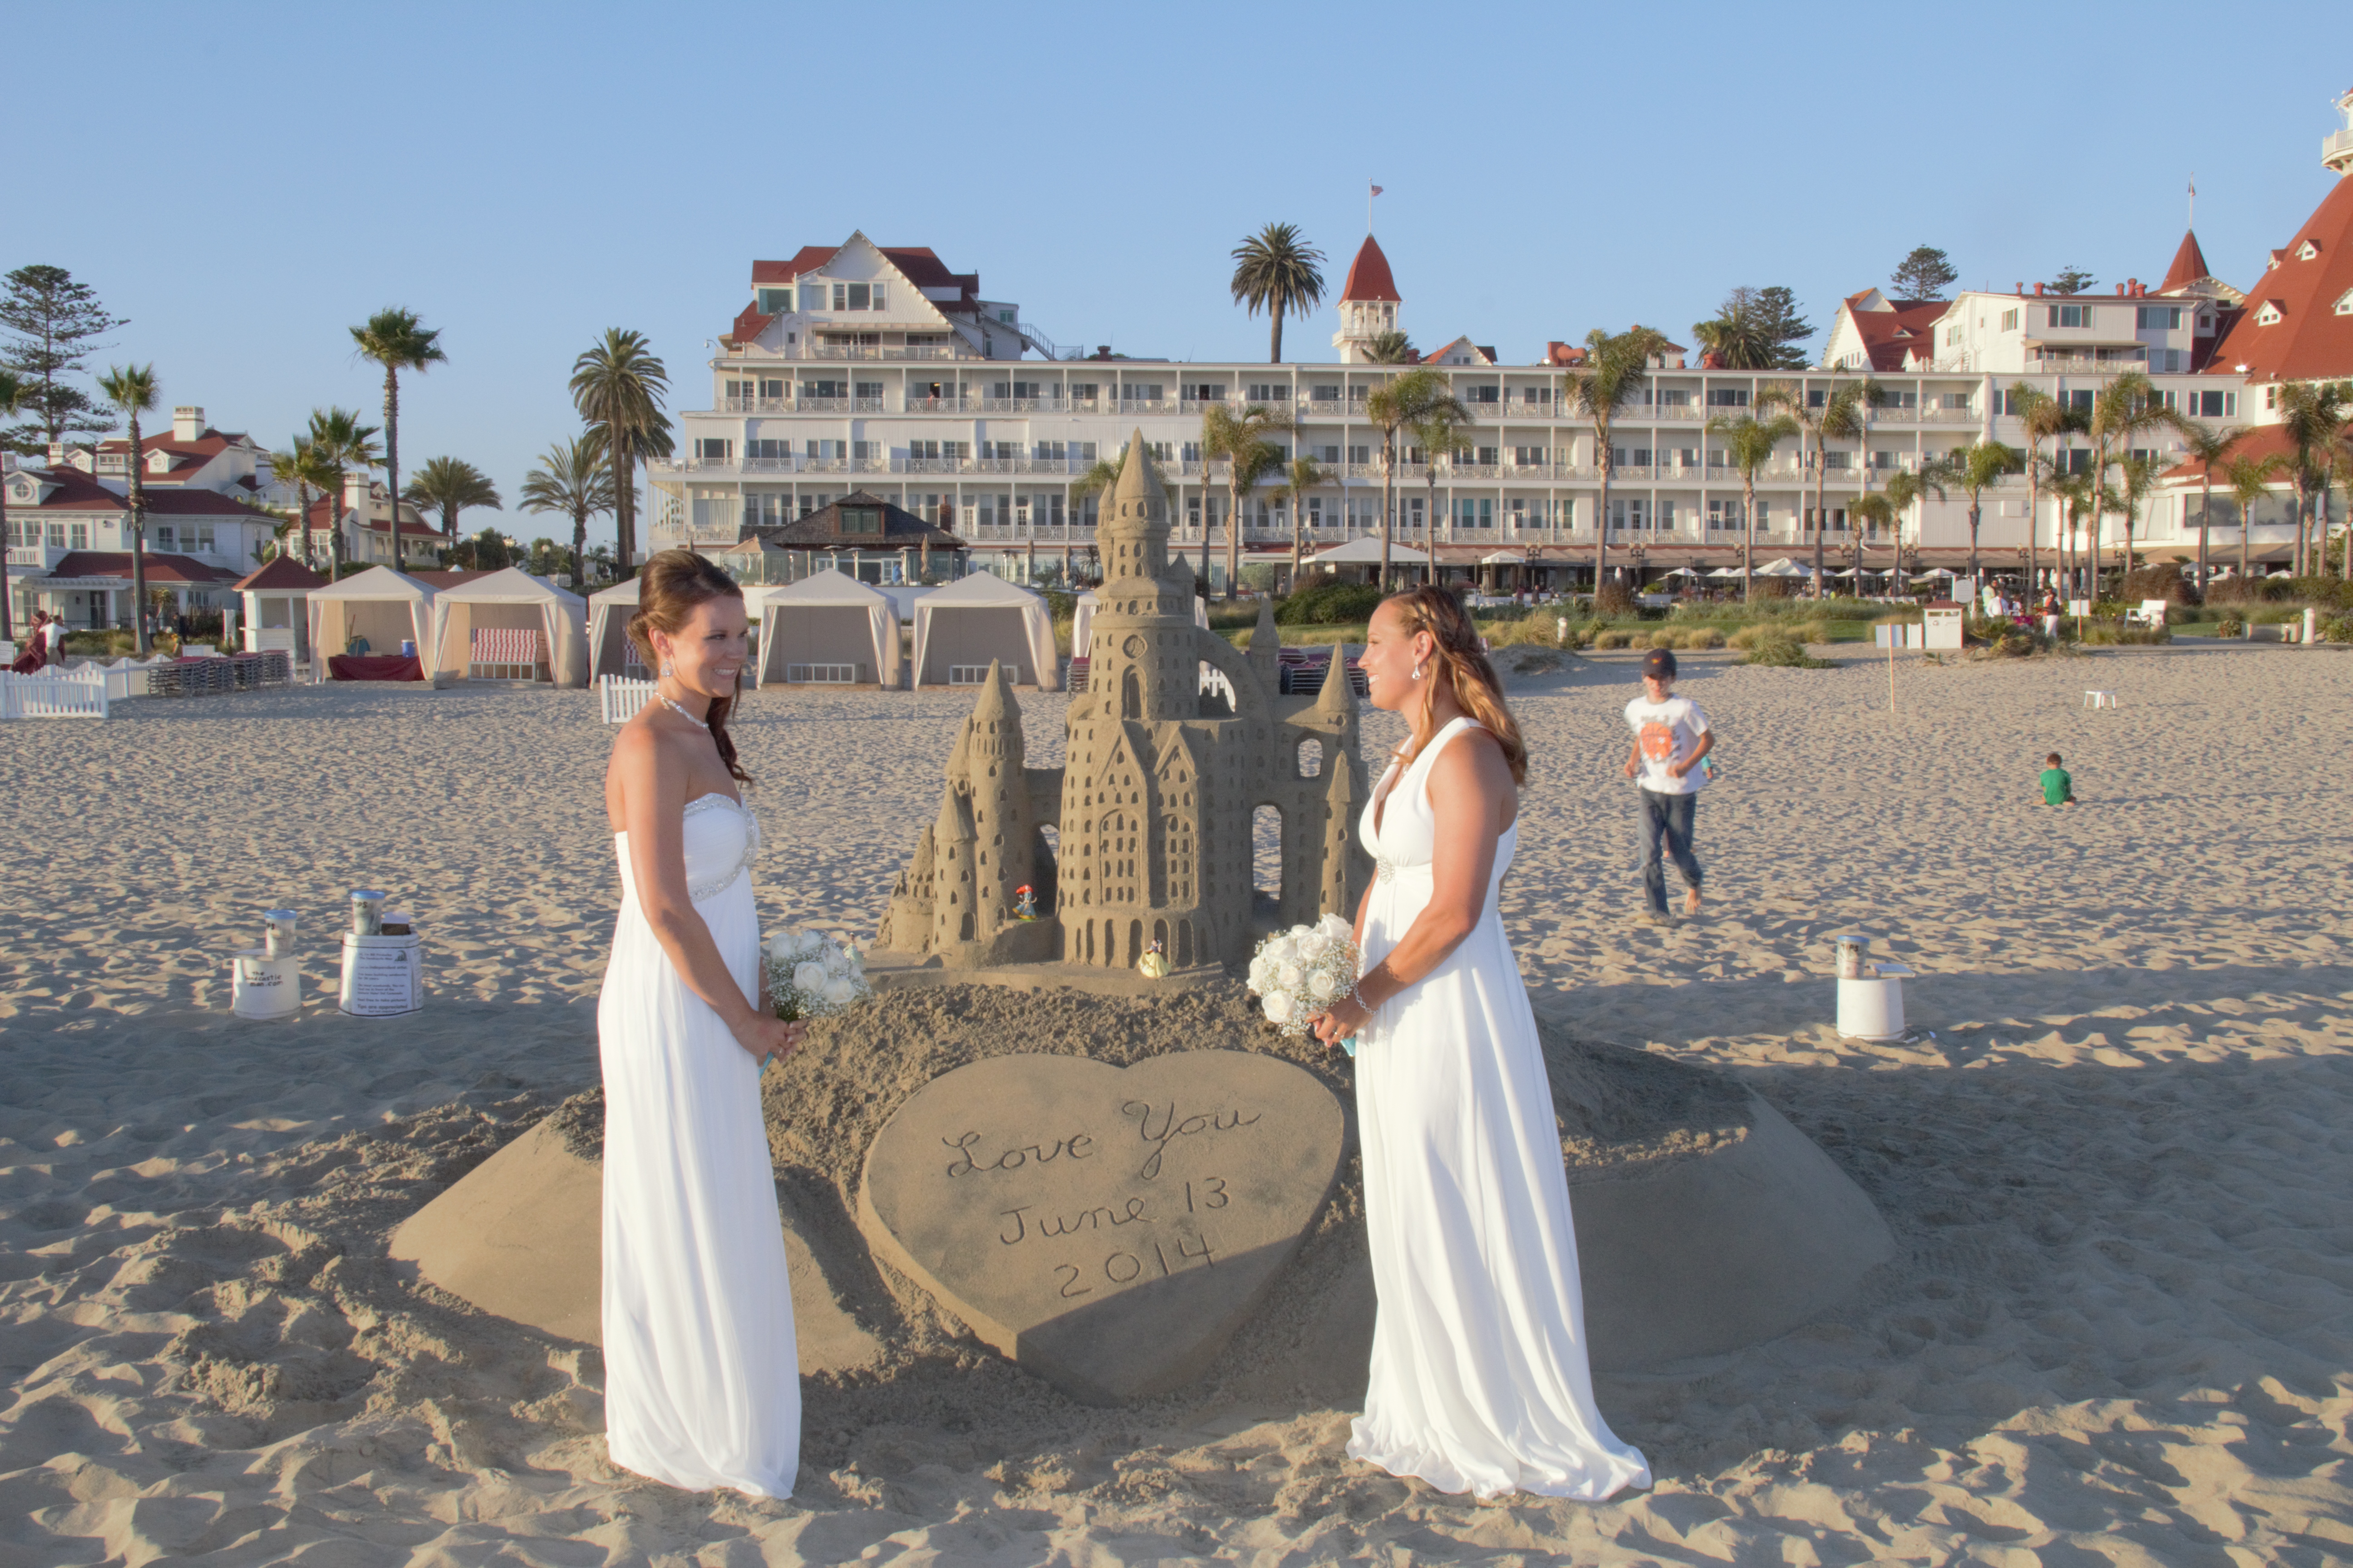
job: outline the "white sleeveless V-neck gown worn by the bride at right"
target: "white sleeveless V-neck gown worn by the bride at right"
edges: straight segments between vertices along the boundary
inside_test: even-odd
[[[1471,726],[1454,719],[1412,766],[1391,762],[1358,823],[1379,863],[1367,971],[1431,903],[1431,764]],[[1358,1044],[1379,1312],[1348,1455],[1447,1493],[1598,1500],[1649,1486],[1649,1465],[1593,1406],[1553,1091],[1497,914],[1518,839],[1513,825],[1497,842],[1471,936]]]

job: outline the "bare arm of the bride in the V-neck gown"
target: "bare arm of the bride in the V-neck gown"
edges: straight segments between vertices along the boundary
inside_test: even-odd
[[[1511,780],[1504,750],[1485,731],[1459,736],[1431,764],[1428,790],[1438,818],[1438,839],[1431,846],[1431,903],[1388,957],[1355,983],[1355,999],[1344,997],[1318,1016],[1315,1037],[1325,1044],[1355,1034],[1384,1001],[1445,964],[1487,912],[1494,846],[1518,813],[1518,785]]]

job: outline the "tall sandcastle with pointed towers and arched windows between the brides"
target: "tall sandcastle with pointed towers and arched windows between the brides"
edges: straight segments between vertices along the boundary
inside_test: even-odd
[[[1134,966],[1160,943],[1191,969],[1245,959],[1261,929],[1355,912],[1372,863],[1355,842],[1365,764],[1348,682],[1280,696],[1268,602],[1249,654],[1193,623],[1193,574],[1169,564],[1167,491],[1141,430],[1099,543],[1094,656],[1064,766],[1026,764],[1012,684],[991,668],[939,816],[882,914],[882,947],[946,969]],[[1261,806],[1282,825],[1271,900],[1254,886]],[[1024,889],[1038,919],[1019,914]]]

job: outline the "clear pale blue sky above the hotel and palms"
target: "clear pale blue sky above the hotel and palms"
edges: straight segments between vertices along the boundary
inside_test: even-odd
[[[346,327],[405,303],[449,364],[402,388],[402,465],[464,456],[513,498],[600,329],[708,407],[751,261],[859,228],[1061,343],[1176,360],[1266,355],[1226,292],[1261,223],[1337,294],[1369,181],[1414,341],[1506,360],[1635,320],[1689,341],[1734,284],[1826,327],[1922,242],[1967,284],[2153,282],[2193,172],[2245,287],[2327,190],[2353,85],[2339,7],[2261,16],[2257,73],[2191,5],[33,2],[0,28],[0,268],[73,270],[129,317],[101,364],[271,444],[379,404]],[[1332,329],[1292,322],[1289,355]]]

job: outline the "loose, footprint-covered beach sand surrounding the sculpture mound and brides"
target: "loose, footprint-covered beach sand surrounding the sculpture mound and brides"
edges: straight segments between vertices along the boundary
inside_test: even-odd
[[[621,1476],[593,1352],[381,1262],[595,1079],[595,701],[306,689],[0,729],[0,1568],[2353,1556],[2353,661],[1906,665],[1894,717],[1866,658],[1685,663],[1729,776],[1682,931],[1631,924],[1631,663],[1518,696],[1537,780],[1506,917],[1539,1006],[1741,1070],[1904,1255],[1779,1342],[1605,1378],[1659,1472],[1607,1507],[1457,1502],[1348,1462],[1346,1410],[1247,1389],[1019,1450],[812,1434],[847,1458],[791,1505]],[[2085,686],[2125,705],[2085,712]],[[769,922],[871,931],[965,705],[753,698]],[[1059,757],[1061,698],[1024,708]],[[2045,750],[2082,806],[2033,804]],[[261,907],[304,912],[318,994],[367,884],[426,931],[426,1013],[228,1018]],[[1934,1039],[1831,1032],[1849,926],[1922,971]]]

